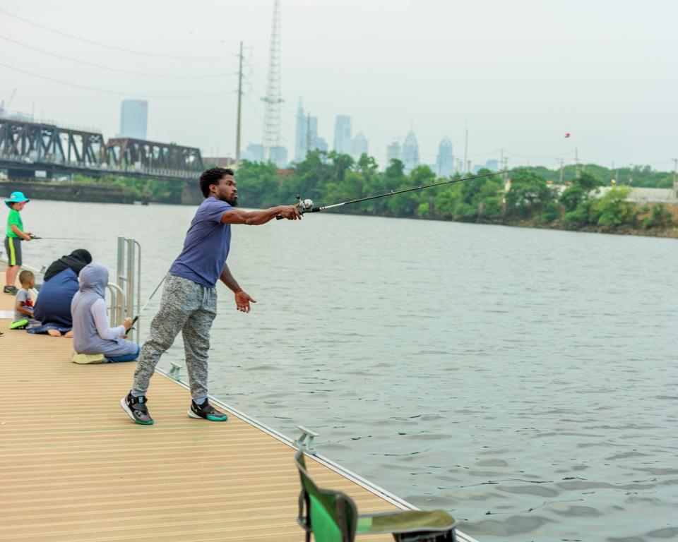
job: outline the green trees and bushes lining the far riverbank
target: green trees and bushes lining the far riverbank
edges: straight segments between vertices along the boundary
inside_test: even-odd
[[[672,188],[673,172],[649,166],[611,170],[581,164],[555,170],[516,167],[505,176],[464,181],[468,176],[455,174],[447,179],[458,179],[458,183],[329,212],[678,238],[678,205],[627,201],[632,188]],[[261,208],[294,203],[297,194],[316,205],[330,205],[441,180],[445,179],[436,178],[425,165],[407,172],[403,162],[394,159],[380,171],[374,157],[362,155],[355,161],[348,155],[321,151],[309,152],[290,169],[244,161],[237,171],[242,205]],[[117,176],[76,175],[69,184],[78,183],[117,186],[129,191],[133,199],[155,203],[179,203],[184,189],[184,183],[177,181]],[[607,188],[600,190],[603,187]]]

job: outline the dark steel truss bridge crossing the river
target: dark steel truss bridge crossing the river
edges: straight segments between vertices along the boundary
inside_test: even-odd
[[[96,131],[0,119],[0,169],[10,178],[121,175],[194,181],[204,169],[200,150],[132,138],[105,142]]]

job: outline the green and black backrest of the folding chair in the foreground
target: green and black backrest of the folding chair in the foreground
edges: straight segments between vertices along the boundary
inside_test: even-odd
[[[316,542],[353,542],[358,517],[355,502],[341,491],[316,486],[302,450],[295,454],[295,464],[302,481],[297,522],[306,529],[307,540],[312,532]]]

